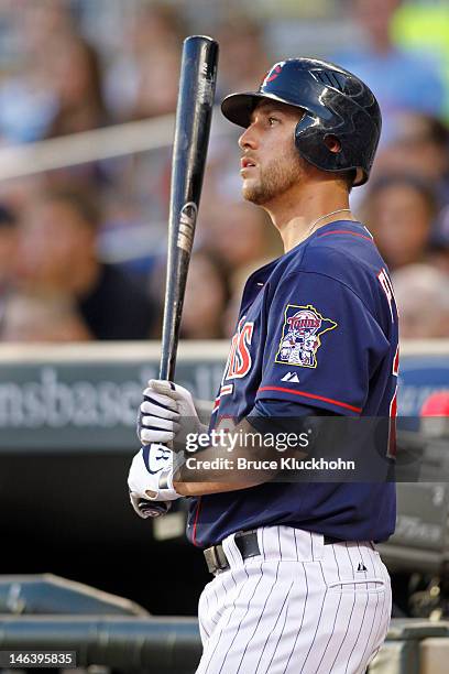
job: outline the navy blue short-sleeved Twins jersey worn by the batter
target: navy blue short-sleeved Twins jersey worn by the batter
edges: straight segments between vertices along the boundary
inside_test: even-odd
[[[282,410],[394,417],[397,360],[386,265],[360,222],[330,222],[249,278],[211,427]],[[205,547],[274,524],[383,541],[394,531],[395,487],[265,482],[204,496],[191,500],[187,533]]]

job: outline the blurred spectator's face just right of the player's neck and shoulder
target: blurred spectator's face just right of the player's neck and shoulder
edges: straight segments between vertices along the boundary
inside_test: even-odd
[[[373,182],[363,220],[391,270],[425,259],[435,217],[435,196],[426,182],[412,175]]]

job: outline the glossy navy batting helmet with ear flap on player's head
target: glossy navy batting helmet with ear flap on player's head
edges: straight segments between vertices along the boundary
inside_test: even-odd
[[[322,171],[355,173],[363,185],[374,161],[382,117],[374,94],[355,75],[316,58],[280,61],[258,91],[231,94],[221,104],[230,121],[249,127],[260,99],[272,99],[305,111],[295,129],[295,145],[303,159]],[[339,141],[339,151],[326,144]]]

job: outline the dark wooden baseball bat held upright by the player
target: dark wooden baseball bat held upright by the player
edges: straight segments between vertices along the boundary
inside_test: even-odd
[[[205,35],[184,41],[176,107],[168,216],[168,257],[160,379],[173,381],[179,326],[205,174],[217,80],[218,43]],[[171,501],[143,501],[149,517],[165,514]]]

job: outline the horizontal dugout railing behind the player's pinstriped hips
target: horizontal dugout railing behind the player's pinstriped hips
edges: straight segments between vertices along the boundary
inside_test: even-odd
[[[72,652],[80,668],[194,674],[201,644],[195,618],[0,616],[0,651]],[[369,673],[446,674],[448,657],[449,622],[393,619]]]

